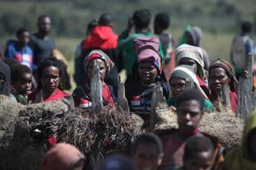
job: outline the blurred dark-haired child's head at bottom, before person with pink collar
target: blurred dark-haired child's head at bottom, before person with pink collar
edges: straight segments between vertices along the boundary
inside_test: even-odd
[[[214,145],[209,137],[196,135],[188,139],[180,170],[210,170],[214,163]]]

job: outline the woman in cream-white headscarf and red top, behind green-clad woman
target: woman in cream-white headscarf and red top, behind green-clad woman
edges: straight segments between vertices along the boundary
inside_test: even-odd
[[[183,44],[176,49],[176,62],[179,66],[193,66],[200,87],[209,97],[210,91],[207,85],[207,75],[204,70],[203,50],[200,47]]]

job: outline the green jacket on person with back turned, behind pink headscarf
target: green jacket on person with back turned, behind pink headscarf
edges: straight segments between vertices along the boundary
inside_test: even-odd
[[[133,47],[133,41],[141,36],[153,36],[151,32],[146,33],[134,33],[129,35],[129,30],[125,30],[122,32],[122,34],[118,37],[118,45],[117,48],[120,51],[123,51],[126,53],[125,61],[124,61],[124,68],[126,70],[126,76],[128,77],[130,75],[130,72],[132,70],[132,66],[136,62],[136,53]],[[161,57],[161,61],[164,61],[163,59],[163,51],[162,51],[162,45],[159,44],[159,54]],[[163,63],[162,63],[163,64]]]

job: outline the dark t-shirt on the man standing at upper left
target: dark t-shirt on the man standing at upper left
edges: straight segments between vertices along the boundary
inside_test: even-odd
[[[33,64],[35,65],[38,65],[44,58],[49,57],[52,51],[56,48],[55,41],[51,35],[42,38],[38,33],[31,36],[30,45],[33,49]]]

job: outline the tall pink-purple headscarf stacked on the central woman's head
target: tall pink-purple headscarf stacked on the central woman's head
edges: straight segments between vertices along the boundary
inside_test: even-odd
[[[159,38],[158,37],[138,37],[133,42],[135,51],[137,53],[137,61],[153,62],[154,66],[158,69],[159,72],[162,71],[161,59],[159,57]]]

